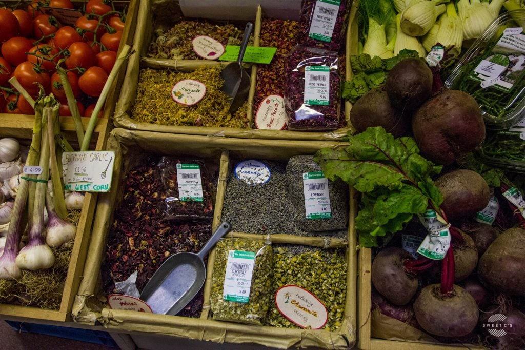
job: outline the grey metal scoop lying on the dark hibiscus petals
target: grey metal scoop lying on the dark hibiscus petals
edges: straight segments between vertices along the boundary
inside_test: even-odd
[[[232,225],[223,222],[198,253],[182,252],[167,258],[144,287],[140,299],[155,314],[176,315],[198,293],[206,280],[203,258]]]

